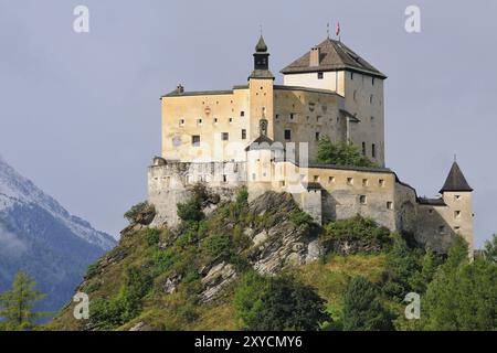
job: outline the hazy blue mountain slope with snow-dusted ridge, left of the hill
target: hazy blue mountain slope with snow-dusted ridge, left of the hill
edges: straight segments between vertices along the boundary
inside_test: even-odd
[[[55,311],[71,298],[87,266],[115,244],[0,156],[0,291],[24,270],[46,293],[38,309]]]

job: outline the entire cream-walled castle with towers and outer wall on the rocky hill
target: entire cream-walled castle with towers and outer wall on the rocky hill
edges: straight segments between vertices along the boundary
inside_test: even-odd
[[[461,234],[473,252],[473,189],[455,161],[437,199],[420,197],[385,168],[384,74],[329,38],[281,73],[275,85],[261,35],[246,85],[179,85],[161,97],[162,156],[148,170],[155,224],[176,225],[177,203],[200,182],[225,200],[241,186],[250,199],[289,192],[318,223],[360,214],[435,252]],[[350,141],[379,167],[318,164],[322,137]]]

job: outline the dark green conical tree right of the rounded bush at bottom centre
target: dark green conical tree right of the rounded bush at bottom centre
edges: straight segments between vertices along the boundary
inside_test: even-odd
[[[359,276],[349,282],[343,296],[345,331],[393,330],[391,319],[371,281]]]

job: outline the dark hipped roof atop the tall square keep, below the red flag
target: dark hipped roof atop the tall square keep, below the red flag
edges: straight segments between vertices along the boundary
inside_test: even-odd
[[[319,47],[318,66],[309,65],[310,51],[308,51],[306,54],[283,68],[281,73],[294,74],[350,69],[367,73],[380,78],[387,78],[384,74],[382,74],[379,69],[377,69],[366,60],[356,54],[342,42],[326,39],[320,44],[318,44],[317,47]]]

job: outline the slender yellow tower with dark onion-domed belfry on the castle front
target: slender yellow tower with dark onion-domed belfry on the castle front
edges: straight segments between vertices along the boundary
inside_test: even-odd
[[[274,76],[269,71],[269,53],[267,45],[261,35],[255,45],[254,69],[248,76],[250,89],[250,139],[260,136],[260,117],[267,119],[266,136],[274,139]]]

